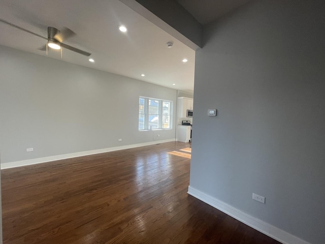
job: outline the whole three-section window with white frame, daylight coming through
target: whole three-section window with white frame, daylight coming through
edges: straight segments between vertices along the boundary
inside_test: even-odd
[[[139,97],[139,131],[172,129],[172,101]]]

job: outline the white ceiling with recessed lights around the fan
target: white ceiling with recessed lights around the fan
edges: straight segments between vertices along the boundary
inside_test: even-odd
[[[1,0],[0,18],[44,37],[47,26],[68,27],[77,35],[63,43],[92,53],[95,63],[67,49],[63,61],[193,92],[194,50],[118,0]],[[121,24],[127,33],[118,30]],[[0,33],[0,45],[46,55],[38,50],[44,39],[2,22]],[[167,48],[169,41],[172,48]],[[48,56],[60,59],[53,49]]]

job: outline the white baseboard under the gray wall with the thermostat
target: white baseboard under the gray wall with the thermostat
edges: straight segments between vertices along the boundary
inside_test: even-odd
[[[192,188],[191,186],[188,186],[188,192],[189,195],[196,197],[200,199],[201,201],[217,208],[218,210],[224,212],[225,214],[235,218],[236,220],[239,220],[240,222],[254,228],[255,230],[258,230],[259,232],[262,232],[263,234],[266,234],[270,236],[273,239],[276,239],[277,241],[280,241],[283,244],[310,244],[309,242],[302,240],[298,238],[295,235],[292,235],[290,233],[287,233],[277,227],[274,227],[262,220],[256,219],[245,212],[230,206],[229,204],[226,204],[216,198],[213,198],[206,193],[203,193],[195,188]]]

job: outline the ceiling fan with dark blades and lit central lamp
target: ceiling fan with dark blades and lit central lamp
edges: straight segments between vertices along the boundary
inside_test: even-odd
[[[13,27],[15,27],[17,29],[20,29],[21,31],[27,32],[29,34],[32,34],[34,36],[37,36],[37,37],[40,37],[40,38],[43,38],[43,39],[47,40],[46,45],[39,48],[39,50],[45,51],[45,50],[47,50],[47,47],[50,47],[50,48],[53,48],[53,49],[61,49],[61,47],[63,47],[63,48],[69,49],[71,51],[80,53],[80,54],[85,55],[85,56],[90,56],[91,55],[91,53],[89,53],[89,52],[80,50],[78,48],[75,48],[75,47],[72,47],[70,45],[67,45],[67,44],[63,43],[63,40],[66,40],[66,39],[76,35],[73,31],[71,31],[71,29],[69,29],[67,27],[64,27],[61,31],[59,31],[57,28],[54,28],[54,27],[51,27],[51,26],[47,27],[47,38],[46,38],[46,37],[43,37],[43,36],[41,36],[39,34],[36,34],[34,32],[28,31],[28,29],[25,29],[25,28],[22,28],[22,27],[20,27],[18,25],[10,23],[10,22],[8,22],[8,21],[6,21],[4,19],[0,19],[0,22],[3,22],[5,24],[13,26]]]

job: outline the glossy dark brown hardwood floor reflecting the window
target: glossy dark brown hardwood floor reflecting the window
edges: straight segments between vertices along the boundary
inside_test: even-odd
[[[163,144],[2,170],[4,244],[280,243],[187,194]]]

